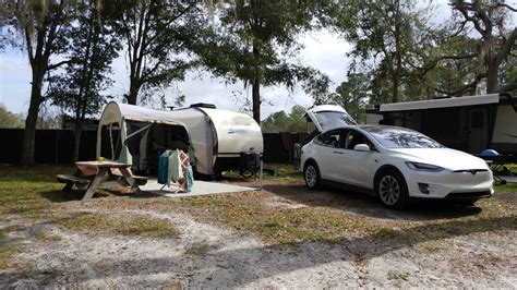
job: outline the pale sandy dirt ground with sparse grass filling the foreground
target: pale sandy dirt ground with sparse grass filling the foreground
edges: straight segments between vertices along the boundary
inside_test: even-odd
[[[173,205],[172,198],[156,196],[67,201],[52,209],[57,216],[143,215],[168,220],[176,233],[98,233],[70,230],[48,218],[7,215],[0,221],[7,232],[1,241],[23,250],[0,270],[0,288],[517,288],[516,195],[504,193],[468,208],[437,203],[395,212],[357,193],[313,192],[299,181],[272,181],[262,192]],[[332,233],[334,228],[317,221],[311,227],[328,234],[306,238],[313,235],[275,229],[270,238],[273,226],[249,228],[254,225],[249,220],[218,218],[223,212],[216,205],[229,200],[239,203],[235,206],[285,213],[286,219],[317,208],[322,212],[308,213],[330,210],[369,226]]]

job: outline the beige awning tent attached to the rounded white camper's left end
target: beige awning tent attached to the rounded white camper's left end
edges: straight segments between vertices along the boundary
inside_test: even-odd
[[[97,130],[97,157],[119,159],[147,173],[157,171],[165,149],[191,153],[187,126],[169,111],[110,101]]]

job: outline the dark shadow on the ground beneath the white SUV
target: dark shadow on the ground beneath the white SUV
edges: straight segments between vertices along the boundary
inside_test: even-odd
[[[376,196],[333,188],[310,190],[304,185],[264,185],[264,190],[293,203],[308,206],[328,206],[373,218],[402,220],[453,219],[478,215],[482,208],[461,206],[447,201],[412,200],[406,210],[384,207]]]

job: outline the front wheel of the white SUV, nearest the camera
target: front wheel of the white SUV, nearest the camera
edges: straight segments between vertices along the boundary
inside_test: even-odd
[[[375,191],[384,206],[393,209],[405,209],[409,194],[402,174],[394,169],[381,172],[375,180]]]

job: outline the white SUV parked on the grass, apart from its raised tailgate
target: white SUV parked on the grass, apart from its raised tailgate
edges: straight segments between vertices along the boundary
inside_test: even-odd
[[[330,126],[301,148],[300,167],[311,189],[346,185],[375,193],[390,208],[406,207],[409,197],[472,204],[494,192],[484,160],[398,126]]]

